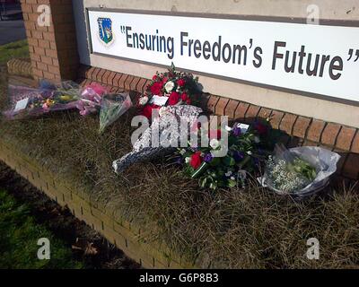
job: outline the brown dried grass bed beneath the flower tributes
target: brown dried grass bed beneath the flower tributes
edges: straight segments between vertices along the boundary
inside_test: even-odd
[[[1,81],[4,102],[4,73]],[[2,121],[0,135],[82,187],[115,216],[151,226],[149,238],[166,242],[199,266],[359,267],[359,196],[351,188],[331,187],[333,196],[298,203],[254,181],[244,190],[211,193],[166,161],[136,164],[116,176],[111,162],[131,148],[134,113],[121,117],[104,135],[97,133],[98,116],[76,112]],[[320,260],[305,256],[311,237],[320,240]]]

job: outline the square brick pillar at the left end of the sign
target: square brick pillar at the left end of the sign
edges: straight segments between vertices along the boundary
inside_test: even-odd
[[[55,82],[76,77],[79,58],[71,0],[22,0],[32,74]],[[48,5],[49,25],[41,26],[39,5]]]

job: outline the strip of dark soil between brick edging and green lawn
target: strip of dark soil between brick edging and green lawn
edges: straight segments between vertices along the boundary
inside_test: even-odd
[[[31,214],[73,250],[74,259],[86,268],[136,269],[141,266],[110,244],[98,232],[74,217],[67,208],[40,192],[0,161],[0,187],[19,202],[31,206]]]

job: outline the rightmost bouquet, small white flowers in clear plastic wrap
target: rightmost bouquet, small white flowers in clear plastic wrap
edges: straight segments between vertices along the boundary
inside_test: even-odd
[[[264,176],[258,180],[263,187],[280,195],[309,196],[328,185],[339,159],[339,154],[321,147],[287,150],[283,145],[277,145],[275,155],[267,162]]]

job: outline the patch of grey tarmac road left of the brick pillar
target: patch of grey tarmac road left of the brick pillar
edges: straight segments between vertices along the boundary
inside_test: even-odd
[[[0,21],[0,45],[26,39],[22,20]]]

